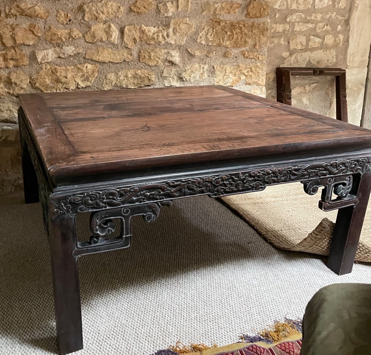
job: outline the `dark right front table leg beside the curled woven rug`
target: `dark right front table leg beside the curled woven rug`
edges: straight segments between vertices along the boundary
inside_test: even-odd
[[[338,275],[352,272],[359,236],[371,190],[371,172],[354,175],[352,194],[357,195],[355,206],[340,208],[336,218],[327,266]]]

